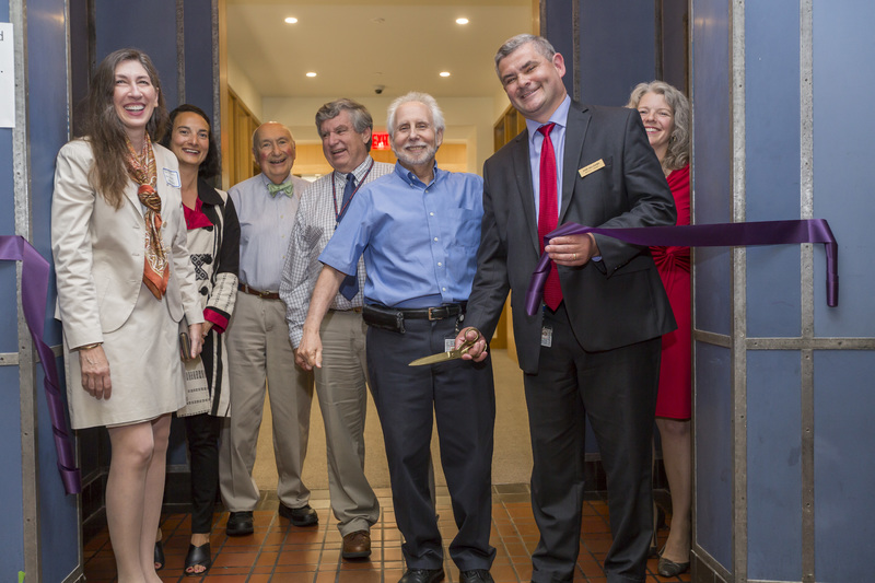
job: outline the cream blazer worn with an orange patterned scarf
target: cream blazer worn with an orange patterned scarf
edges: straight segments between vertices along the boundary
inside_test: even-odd
[[[170,255],[167,307],[174,322],[203,322],[195,271],[186,246],[186,224],[176,156],[153,143],[161,197],[161,238]],[[89,183],[94,164],[84,139],[58,152],[51,198],[51,254],[58,284],[56,317],[69,348],[103,341],[121,327],[141,293],[145,250],[143,207],[129,182],[120,209]],[[148,292],[143,292],[148,293]]]

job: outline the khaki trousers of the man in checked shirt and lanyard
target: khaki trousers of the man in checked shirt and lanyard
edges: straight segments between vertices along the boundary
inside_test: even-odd
[[[323,365],[315,370],[331,511],[342,536],[370,530],[380,518],[380,503],[364,476],[365,331],[361,313],[329,311],[320,328]]]

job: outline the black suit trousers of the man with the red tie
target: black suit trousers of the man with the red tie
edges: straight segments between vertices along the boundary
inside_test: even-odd
[[[524,384],[532,431],[532,510],[540,541],[532,581],[570,582],[580,550],[584,429],[588,418],[607,476],[614,543],[608,583],[643,582],[653,532],[651,440],[661,339],[586,352],[564,304],[545,313],[552,346],[541,347],[537,374]]]

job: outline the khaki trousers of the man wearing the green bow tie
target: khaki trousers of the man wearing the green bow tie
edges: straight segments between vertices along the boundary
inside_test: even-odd
[[[258,503],[252,473],[267,392],[279,474],[277,495],[287,506],[301,508],[310,500],[301,469],[307,453],[313,376],[294,363],[285,304],[237,292],[225,334],[231,420],[219,456],[222,501],[232,512],[250,511]]]

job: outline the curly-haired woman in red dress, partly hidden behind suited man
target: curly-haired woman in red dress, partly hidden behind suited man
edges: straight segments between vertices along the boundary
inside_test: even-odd
[[[650,144],[660,159],[675,198],[677,224],[690,224],[690,106],[687,97],[668,83],[653,81],[635,86],[627,106],[641,114]],[[675,576],[690,567],[690,249],[651,247],[651,253],[677,320],[677,330],[663,336],[660,393],[656,397],[656,427],[672,491],[672,528],[660,553],[658,573]]]

